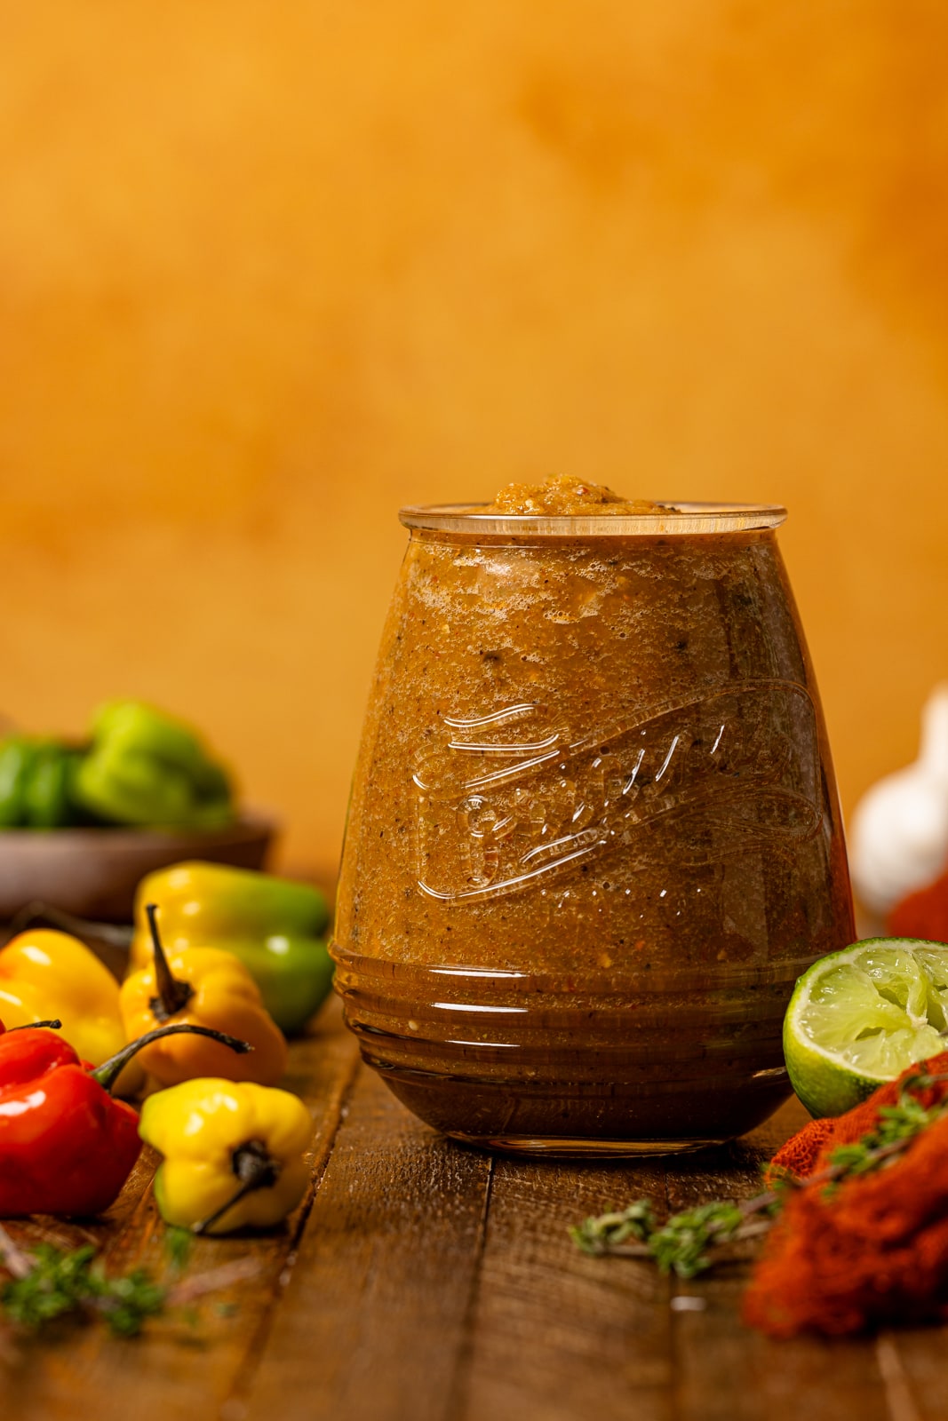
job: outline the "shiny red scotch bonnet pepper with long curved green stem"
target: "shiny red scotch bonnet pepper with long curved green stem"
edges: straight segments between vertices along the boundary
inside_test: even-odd
[[[23,1214],[88,1216],[115,1202],[138,1160],[138,1111],[109,1088],[142,1046],[173,1032],[215,1036],[232,1050],[246,1042],[186,1023],[149,1032],[92,1069],[45,1026],[0,1023],[0,1218]]]

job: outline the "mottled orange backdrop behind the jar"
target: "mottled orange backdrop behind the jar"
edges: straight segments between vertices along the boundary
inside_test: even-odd
[[[0,708],[193,718],[333,871],[405,502],[789,504],[844,806],[948,674],[938,0],[31,0]]]

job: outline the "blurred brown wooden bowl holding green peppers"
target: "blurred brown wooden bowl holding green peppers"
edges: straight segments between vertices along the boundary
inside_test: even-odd
[[[80,918],[131,922],[135,888],[145,874],[185,858],[263,868],[276,834],[266,818],[227,828],[51,828],[0,831],[0,921],[33,899]]]

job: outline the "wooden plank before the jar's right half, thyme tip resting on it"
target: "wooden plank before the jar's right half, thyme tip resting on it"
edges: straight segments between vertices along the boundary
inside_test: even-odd
[[[668,1421],[669,1285],[586,1258],[567,1229],[642,1194],[664,1167],[497,1158],[469,1354],[446,1421]]]

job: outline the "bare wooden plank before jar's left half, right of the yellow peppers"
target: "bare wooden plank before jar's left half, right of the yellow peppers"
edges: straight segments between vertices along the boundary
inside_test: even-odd
[[[242,1415],[441,1421],[489,1181],[489,1155],[436,1135],[364,1071]]]

